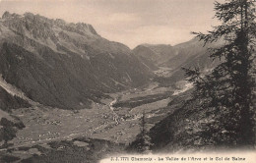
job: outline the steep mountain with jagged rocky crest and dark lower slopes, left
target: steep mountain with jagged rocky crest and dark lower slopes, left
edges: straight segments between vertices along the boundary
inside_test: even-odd
[[[87,108],[106,92],[139,86],[149,69],[118,42],[88,24],[32,13],[0,20],[0,74],[32,100],[64,109]]]

